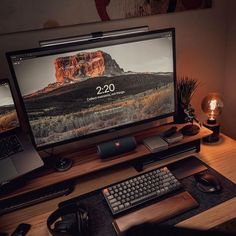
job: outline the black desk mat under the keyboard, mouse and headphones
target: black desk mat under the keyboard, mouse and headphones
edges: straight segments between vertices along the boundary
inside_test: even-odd
[[[193,157],[191,156],[191,158]],[[200,160],[197,158],[195,159],[195,161],[198,161],[202,164]],[[188,191],[198,201],[199,207],[162,222],[161,224],[175,225],[236,196],[236,185],[233,182],[219,174],[211,167],[207,166],[205,163],[204,165],[208,168],[204,172],[211,173],[219,179],[221,185],[223,186],[222,191],[219,193],[203,193],[196,188],[196,182],[193,176],[188,176],[181,179],[180,182],[183,184],[184,190]],[[74,202],[81,204],[82,207],[87,209],[90,216],[89,228],[91,230],[91,236],[117,235],[112,226],[113,217],[101,193],[101,189],[67,200],[65,202],[61,202],[59,207]]]

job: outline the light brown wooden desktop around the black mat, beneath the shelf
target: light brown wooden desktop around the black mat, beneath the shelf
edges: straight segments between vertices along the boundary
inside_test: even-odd
[[[201,152],[198,154],[198,157],[212,168],[216,169],[218,172],[236,183],[235,140],[222,135],[220,143],[211,145],[202,144]],[[178,156],[178,158],[184,158],[184,156]],[[162,164],[156,163],[155,165],[147,167],[145,170],[156,168],[160,165],[168,164],[173,161],[174,158],[169,158],[168,160],[165,160],[165,162],[162,162]],[[99,173],[96,173],[96,176],[82,176],[78,179],[78,184],[76,185],[75,190],[69,196],[56,198],[1,216],[0,230],[11,233],[19,223],[24,222],[32,225],[32,228],[27,235],[50,235],[47,231],[46,219],[48,215],[56,209],[59,202],[95,190],[110,183],[126,179],[136,174],[137,172],[135,169],[129,166],[115,167],[115,171],[114,169],[102,170]],[[45,181],[47,181],[46,178]],[[189,218],[178,225],[198,229],[209,229],[235,217],[236,197],[205,212],[202,212],[199,215]]]

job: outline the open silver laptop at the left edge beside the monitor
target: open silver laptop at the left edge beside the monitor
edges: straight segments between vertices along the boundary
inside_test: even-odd
[[[0,80],[0,187],[43,164],[20,127],[9,81]]]

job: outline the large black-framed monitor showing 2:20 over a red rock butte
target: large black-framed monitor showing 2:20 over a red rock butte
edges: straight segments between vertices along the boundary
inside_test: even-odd
[[[7,53],[37,148],[175,112],[174,29]]]

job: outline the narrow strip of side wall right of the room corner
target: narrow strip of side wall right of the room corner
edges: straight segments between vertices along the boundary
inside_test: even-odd
[[[222,114],[222,131],[236,139],[236,1],[228,1],[227,6],[227,41],[226,66],[223,90],[224,110]]]

